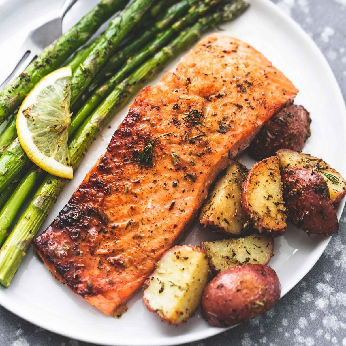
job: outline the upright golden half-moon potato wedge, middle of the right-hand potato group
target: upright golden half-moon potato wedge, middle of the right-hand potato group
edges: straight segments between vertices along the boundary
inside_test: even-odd
[[[282,235],[285,232],[287,216],[277,156],[252,167],[243,183],[242,206],[260,233]]]

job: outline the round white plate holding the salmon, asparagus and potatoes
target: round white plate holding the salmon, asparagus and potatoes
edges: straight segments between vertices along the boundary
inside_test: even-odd
[[[346,148],[346,109],[330,67],[310,37],[270,1],[252,0],[251,4],[251,8],[242,17],[223,26],[224,33],[253,45],[300,89],[296,102],[303,104],[311,112],[312,118],[312,136],[304,152],[323,157],[346,176],[346,161],[343,160]],[[80,5],[76,8],[81,13],[85,11]],[[77,14],[77,17],[80,16],[81,14]],[[68,18],[73,21],[71,16]],[[165,70],[171,69],[178,61],[176,59]],[[53,221],[85,174],[105,151],[114,130],[126,113],[126,108],[119,112],[110,124],[111,129],[104,130],[102,136],[93,143],[42,229]],[[243,160],[251,164],[245,157]],[[343,206],[344,202],[338,207],[339,217]],[[184,242],[198,244],[207,237],[208,233],[195,225]],[[270,265],[279,276],[282,295],[306,275],[324,251],[329,239],[318,236],[309,238],[293,227],[289,228],[285,236],[275,239],[275,256]],[[55,281],[31,250],[10,288],[0,290],[0,304],[48,330],[104,345],[176,345],[206,338],[224,330],[210,327],[199,313],[177,328],[161,323],[153,313],[146,310],[140,292],[129,301],[129,310],[121,319],[107,317]]]

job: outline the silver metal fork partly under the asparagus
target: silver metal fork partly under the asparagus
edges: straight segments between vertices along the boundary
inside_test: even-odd
[[[7,85],[13,77],[19,75],[44,48],[62,35],[62,20],[66,12],[77,0],[65,0],[61,9],[54,19],[51,19],[36,29],[30,31],[24,44],[20,48],[18,55],[21,57],[19,62],[13,61],[10,67],[0,71],[0,90]],[[12,71],[9,73],[9,71]]]

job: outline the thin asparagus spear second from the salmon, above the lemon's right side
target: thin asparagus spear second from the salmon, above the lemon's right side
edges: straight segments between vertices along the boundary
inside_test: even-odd
[[[82,124],[82,122],[93,112],[93,110],[99,106],[105,97],[119,84],[122,80],[140,66],[149,56],[153,55],[158,49],[164,46],[173,35],[181,31],[186,26],[190,25],[197,20],[199,16],[202,16],[210,8],[216,5],[220,0],[212,0],[209,3],[200,3],[199,5],[193,5],[190,7],[185,17],[175,22],[169,29],[157,35],[157,37],[148,45],[146,45],[140,52],[134,56],[128,58],[126,63],[121,69],[106,83],[101,85],[92,96],[84,103],[76,116],[71,121],[69,129],[69,135],[73,134],[75,130]],[[165,19],[164,19],[165,20]],[[157,23],[157,26],[162,27],[161,21]]]

